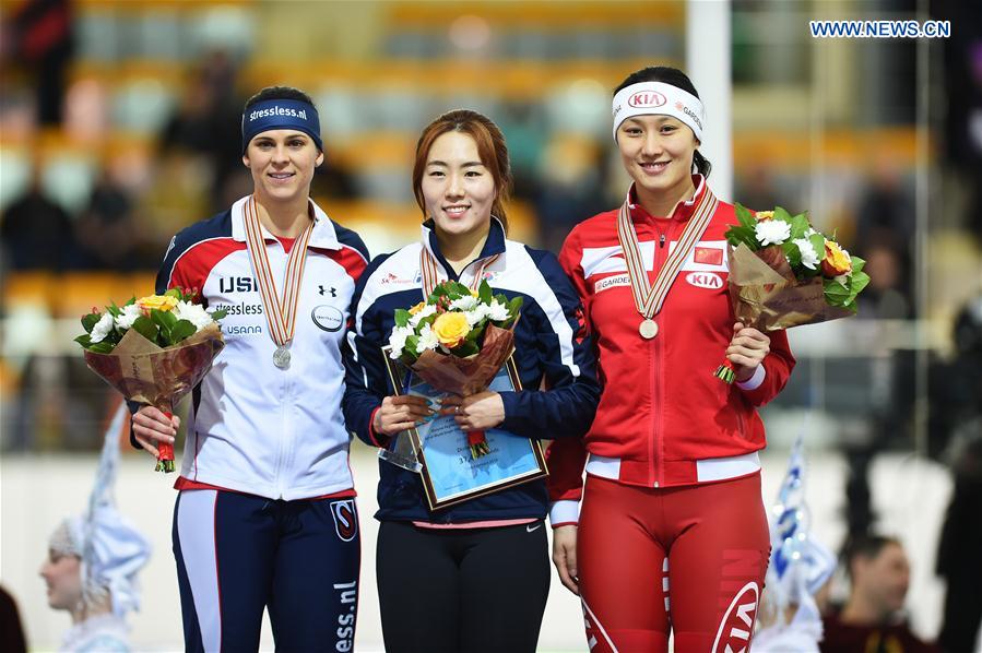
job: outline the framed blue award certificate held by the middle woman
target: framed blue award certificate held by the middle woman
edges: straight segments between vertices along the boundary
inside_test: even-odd
[[[388,349],[388,347],[384,347]],[[384,352],[391,380],[398,394],[416,394],[435,408],[447,393],[436,390],[392,360]],[[395,381],[399,382],[395,382]],[[518,370],[511,358],[505,361],[488,390],[520,390]],[[452,415],[438,415],[406,431],[423,465],[423,485],[430,510],[445,508],[474,497],[487,495],[547,474],[539,440],[530,440],[506,430],[485,431],[490,452],[472,458],[468,435],[457,426]]]

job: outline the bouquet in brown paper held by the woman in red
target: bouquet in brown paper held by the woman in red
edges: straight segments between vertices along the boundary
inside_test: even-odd
[[[815,230],[806,213],[778,206],[755,214],[736,204],[736,218],[725,236],[738,322],[778,331],[855,314],[856,296],[869,283],[866,262]],[[729,360],[714,373],[726,383],[735,377]]]

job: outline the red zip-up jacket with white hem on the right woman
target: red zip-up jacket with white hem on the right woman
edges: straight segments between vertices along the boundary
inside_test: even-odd
[[[631,218],[641,258],[654,283],[682,236],[705,179],[694,177],[696,195],[679,202],[671,219],[655,219],[640,204]],[[773,399],[794,367],[783,331],[770,333],[770,353],[745,383],[727,385],[712,372],[723,361],[735,318],[727,289],[723,234],[736,224],[732,204],[719,206],[654,317],[658,335],[644,340],[627,266],[617,239],[618,210],[577,225],[559,261],[573,282],[587,330],[598,347],[604,384],[593,426],[583,440],[556,440],[548,452],[553,525],[576,521],[569,500],[579,500],[582,472],[629,485],[672,487],[734,478],[759,470],[756,451],[766,444],[756,407]]]

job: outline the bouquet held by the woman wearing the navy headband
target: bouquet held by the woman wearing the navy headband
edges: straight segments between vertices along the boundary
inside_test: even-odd
[[[150,404],[169,417],[211,369],[225,346],[217,320],[193,302],[197,290],[171,288],[164,295],[132,298],[105,311],[82,316],[85,364],[128,400]],[[157,444],[158,472],[174,471],[174,446]]]

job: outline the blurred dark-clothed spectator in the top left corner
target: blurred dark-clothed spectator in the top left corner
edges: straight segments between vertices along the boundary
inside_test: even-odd
[[[61,124],[66,72],[74,51],[70,0],[21,2],[3,28],[4,59],[25,68],[33,76],[37,121]]]

